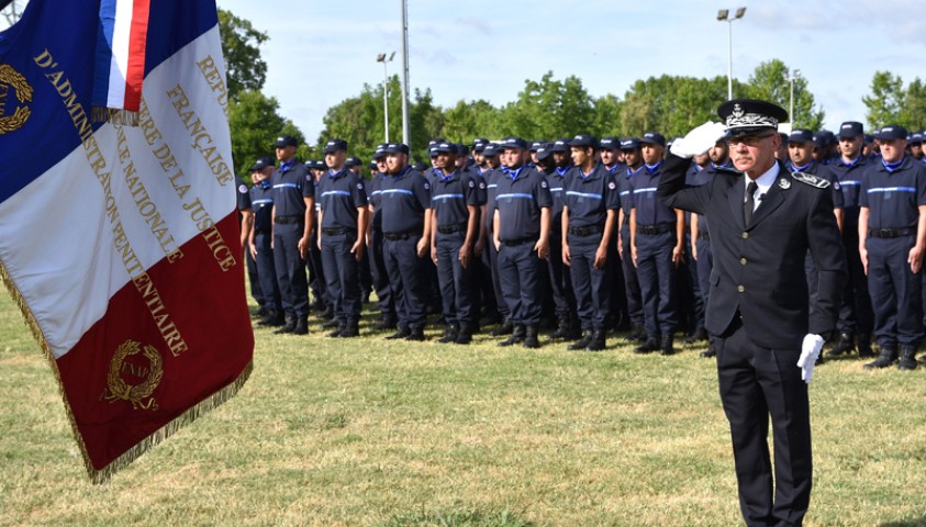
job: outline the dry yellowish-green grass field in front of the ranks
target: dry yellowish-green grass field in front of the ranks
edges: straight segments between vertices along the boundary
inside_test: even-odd
[[[365,322],[365,324],[369,321]],[[0,298],[0,525],[739,524],[712,360],[257,329],[224,406],[103,486]],[[366,334],[366,326],[361,327]],[[700,350],[700,348],[698,349]],[[811,385],[805,525],[926,526],[926,371],[834,360]]]

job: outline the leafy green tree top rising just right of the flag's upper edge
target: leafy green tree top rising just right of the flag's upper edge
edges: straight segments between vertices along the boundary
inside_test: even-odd
[[[260,45],[267,33],[254,29],[249,20],[219,10],[219,33],[225,55],[228,97],[236,99],[244,90],[260,90],[267,79],[267,63],[260,58]]]

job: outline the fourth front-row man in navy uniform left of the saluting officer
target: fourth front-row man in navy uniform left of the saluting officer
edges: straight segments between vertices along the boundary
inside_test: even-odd
[[[431,186],[433,218],[431,257],[444,307],[445,330],[439,343],[469,344],[479,323],[473,293],[475,245],[479,238],[482,192],[477,179],[456,168],[458,145],[437,143],[431,149],[435,160]]]

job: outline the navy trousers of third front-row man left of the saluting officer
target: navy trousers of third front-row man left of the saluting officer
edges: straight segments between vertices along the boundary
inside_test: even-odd
[[[535,243],[504,245],[499,249],[499,280],[502,294],[516,325],[537,325],[543,311],[540,273],[543,261],[534,253]]]

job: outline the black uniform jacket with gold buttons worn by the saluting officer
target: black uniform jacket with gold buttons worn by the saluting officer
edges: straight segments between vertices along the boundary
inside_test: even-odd
[[[745,176],[718,171],[710,183],[687,188],[689,162],[669,156],[658,194],[666,205],[703,214],[711,224],[714,269],[707,330],[721,335],[741,316],[750,340],[772,349],[800,349],[807,333],[832,332],[846,280],[832,190],[802,182],[779,164],[776,182],[745,225]],[[808,248],[819,270],[812,319],[804,271]]]

